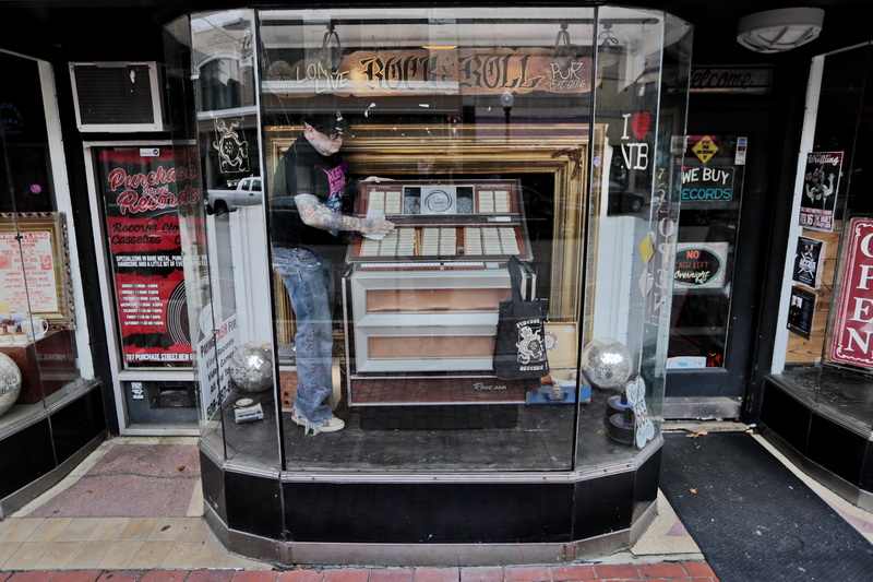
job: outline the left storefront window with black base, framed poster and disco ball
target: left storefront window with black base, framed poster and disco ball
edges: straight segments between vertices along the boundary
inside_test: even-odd
[[[83,378],[93,370],[53,95],[48,63],[0,51],[0,440],[16,463],[0,479],[0,516],[104,426]]]

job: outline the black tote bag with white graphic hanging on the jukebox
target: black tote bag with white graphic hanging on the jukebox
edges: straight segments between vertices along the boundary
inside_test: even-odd
[[[542,305],[522,299],[523,269],[517,258],[510,259],[512,298],[500,302],[494,344],[494,375],[501,380],[542,378],[549,373]]]

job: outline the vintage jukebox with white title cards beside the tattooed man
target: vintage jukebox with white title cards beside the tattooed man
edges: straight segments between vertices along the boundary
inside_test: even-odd
[[[517,181],[361,186],[358,214],[396,225],[349,247],[344,278],[350,405],[522,403],[493,373],[506,261],[531,258]],[[533,271],[522,296],[533,298]]]

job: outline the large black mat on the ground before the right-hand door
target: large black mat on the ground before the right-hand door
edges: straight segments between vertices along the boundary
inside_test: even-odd
[[[873,545],[751,435],[666,433],[660,486],[721,582],[873,580]]]

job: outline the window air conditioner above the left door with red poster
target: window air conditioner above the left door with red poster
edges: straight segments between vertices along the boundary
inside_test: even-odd
[[[157,62],[72,62],[70,75],[80,131],[169,129]]]

